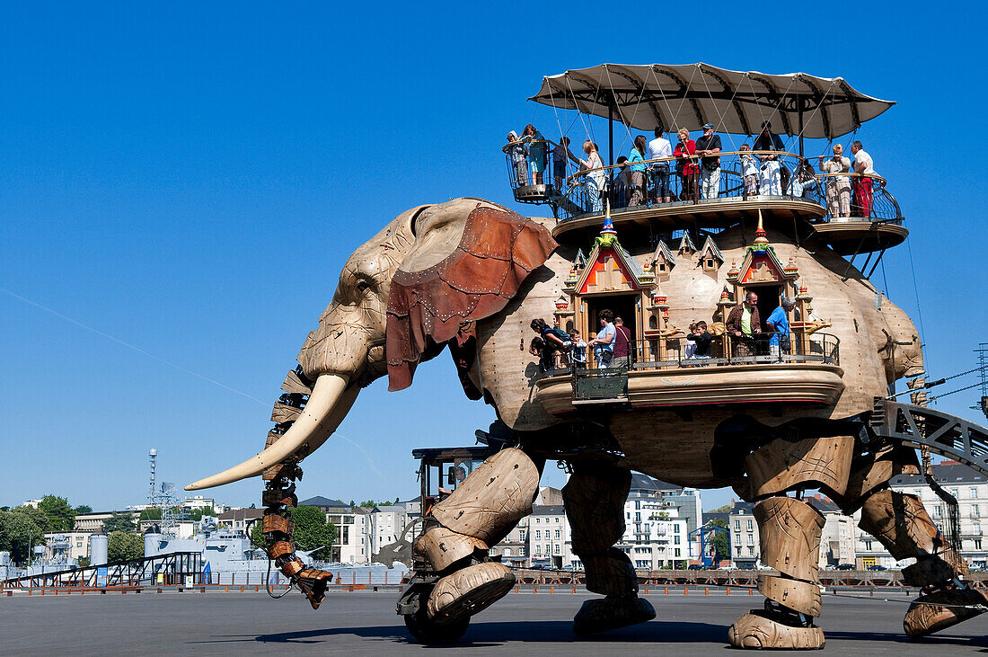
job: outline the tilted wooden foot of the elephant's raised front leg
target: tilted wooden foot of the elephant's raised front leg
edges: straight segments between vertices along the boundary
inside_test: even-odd
[[[494,561],[477,563],[447,575],[429,595],[429,619],[451,624],[479,614],[504,598],[515,586],[515,574]]]

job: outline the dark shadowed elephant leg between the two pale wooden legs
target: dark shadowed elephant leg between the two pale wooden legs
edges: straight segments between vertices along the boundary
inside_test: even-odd
[[[638,598],[638,579],[627,555],[614,547],[624,534],[624,501],[631,472],[606,461],[579,462],[562,489],[573,551],[583,561],[587,589],[606,596],[588,600],[573,631],[591,634],[651,620],[655,610]]]

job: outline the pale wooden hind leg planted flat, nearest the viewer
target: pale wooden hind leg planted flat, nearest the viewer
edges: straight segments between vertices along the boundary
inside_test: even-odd
[[[752,610],[731,625],[728,639],[739,648],[816,649],[824,645],[823,630],[813,624],[822,598],[818,563],[824,518],[798,498],[809,488],[843,494],[852,467],[855,440],[831,437],[787,441],[777,439],[750,453],[745,470],[749,499],[755,505],[762,563],[779,575],[760,575],[765,608]]]

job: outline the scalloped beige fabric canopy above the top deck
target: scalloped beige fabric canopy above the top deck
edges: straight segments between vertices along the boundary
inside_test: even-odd
[[[844,78],[769,75],[708,64],[600,64],[542,78],[530,101],[611,117],[640,130],[699,128],[834,139],[895,105],[856,91]]]

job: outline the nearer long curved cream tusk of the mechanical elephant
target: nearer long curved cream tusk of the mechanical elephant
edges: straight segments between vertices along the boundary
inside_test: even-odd
[[[308,453],[314,452],[336,431],[357,399],[360,386],[347,388],[349,381],[350,377],[342,374],[321,374],[312,386],[305,408],[278,442],[239,465],[200,479],[185,489],[201,490],[253,477],[306,445]]]

